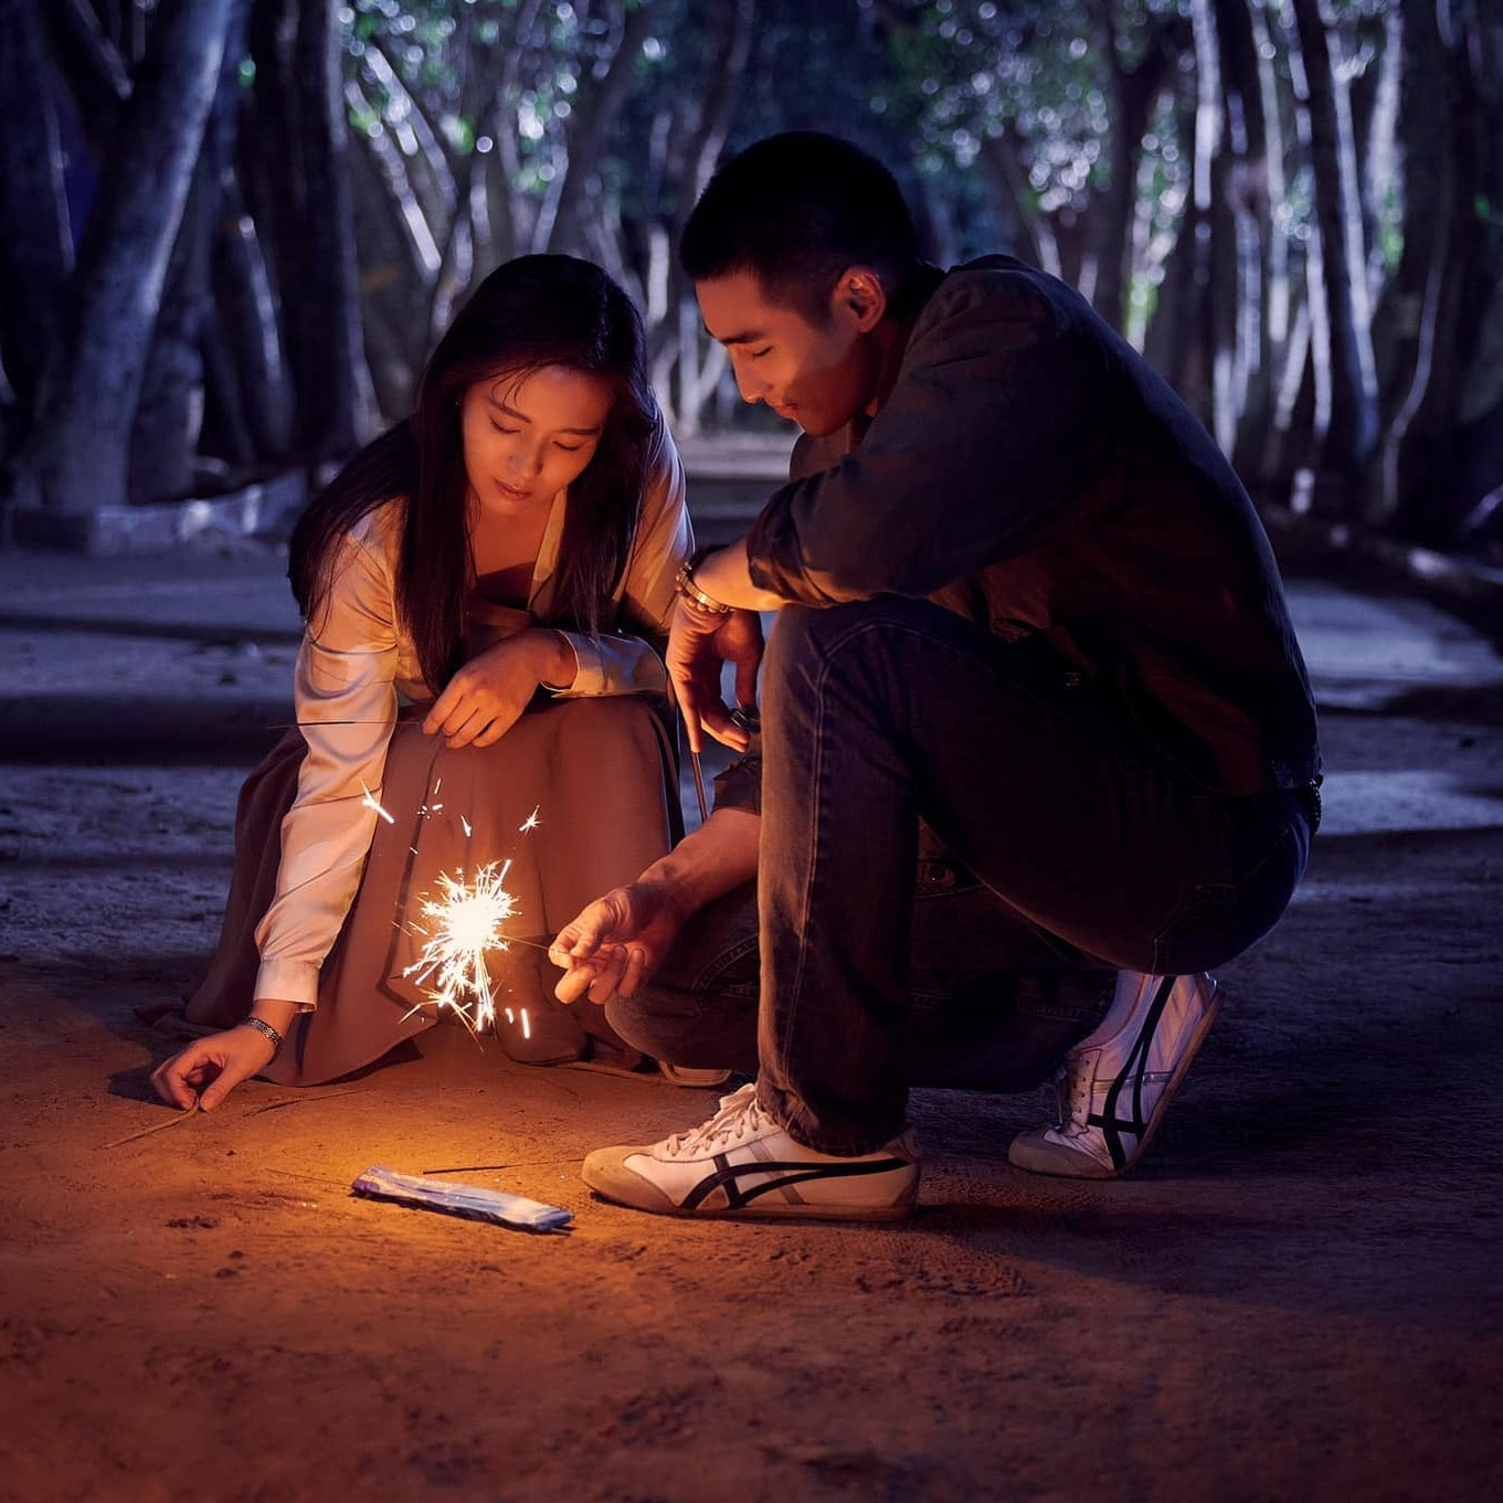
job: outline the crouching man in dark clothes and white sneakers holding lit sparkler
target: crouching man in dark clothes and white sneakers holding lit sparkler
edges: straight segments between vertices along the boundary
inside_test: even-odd
[[[1318,818],[1309,684],[1254,508],[1075,292],[1010,257],[926,266],[891,174],[843,141],[730,161],[681,257],[742,397],[804,430],[750,534],[685,571],[669,645],[691,744],[744,747],[721,660],[744,688],[748,613],[780,613],[761,809],[723,791],[555,959],[559,995],[615,999],[634,1042],[741,1063],[694,1057],[715,1028],[738,1037],[733,987],[658,977],[631,999],[675,936],[682,980],[685,912],[755,872],[758,1079],[694,1132],[591,1154],[585,1180],[673,1214],[902,1216],[909,1084],[963,1063],[987,1001],[1031,998],[1067,1048],[1103,980],[1060,1120],[1010,1157],[1120,1174],[1214,1016],[1205,972],[1282,914]],[[938,947],[926,866],[977,905]]]

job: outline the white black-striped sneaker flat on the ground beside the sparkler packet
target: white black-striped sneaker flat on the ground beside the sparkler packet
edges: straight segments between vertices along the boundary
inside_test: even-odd
[[[762,1111],[752,1082],[691,1132],[597,1148],[582,1175],[604,1199],[663,1216],[899,1220],[918,1195],[918,1150],[909,1130],[878,1153],[816,1153]]]

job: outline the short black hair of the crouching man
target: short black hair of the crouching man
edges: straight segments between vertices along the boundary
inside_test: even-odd
[[[691,281],[752,272],[767,296],[816,323],[848,266],[870,266],[896,299],[920,266],[897,179],[858,146],[788,131],[748,146],[709,180],[684,225]]]

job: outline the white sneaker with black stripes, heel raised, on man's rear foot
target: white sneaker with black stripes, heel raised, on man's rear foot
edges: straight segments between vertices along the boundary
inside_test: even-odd
[[[1126,1174],[1163,1121],[1219,1009],[1220,987],[1205,972],[1120,972],[1106,1016],[1055,1076],[1054,1126],[1019,1133],[1009,1160],[1076,1180]]]

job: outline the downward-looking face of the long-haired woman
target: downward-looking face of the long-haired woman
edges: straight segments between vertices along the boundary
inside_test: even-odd
[[[464,472],[481,510],[496,517],[546,513],[595,457],[613,401],[604,377],[564,365],[475,382],[460,419]]]

